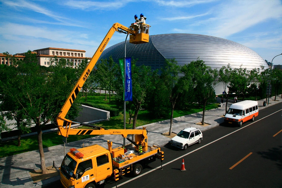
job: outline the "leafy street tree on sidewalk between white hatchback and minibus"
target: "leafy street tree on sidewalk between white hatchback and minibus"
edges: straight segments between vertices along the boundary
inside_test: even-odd
[[[194,87],[196,98],[199,103],[203,104],[203,116],[201,123],[204,125],[206,102],[212,102],[215,98],[214,88],[218,82],[218,71],[217,69],[212,70],[212,68],[207,66],[203,60],[199,59],[191,61],[189,65],[191,66],[191,70],[193,72],[192,80],[196,81],[196,86]]]

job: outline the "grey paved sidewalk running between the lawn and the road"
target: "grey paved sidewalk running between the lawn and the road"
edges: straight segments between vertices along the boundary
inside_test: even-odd
[[[274,101],[274,97],[269,98],[269,107],[271,105],[281,103],[282,99],[276,97],[277,101]],[[219,98],[218,98],[219,99]],[[220,100],[220,99],[219,99]],[[266,108],[263,106],[263,101],[258,101],[259,109]],[[228,103],[228,107],[232,103]],[[178,133],[180,130],[186,127],[196,127],[201,131],[205,131],[206,129],[213,128],[218,126],[220,123],[223,123],[224,119],[221,117],[225,113],[225,103],[222,107],[208,110],[205,112],[205,123],[209,123],[210,125],[203,127],[201,125],[196,125],[195,123],[201,122],[202,120],[202,112],[194,113],[191,115],[182,116],[179,118],[174,118],[172,130],[175,133]],[[163,146],[170,141],[170,138],[162,135],[162,133],[166,133],[170,128],[170,120],[164,120],[157,123],[151,123],[145,125],[148,130],[148,145],[152,146],[153,144],[159,144]],[[139,127],[142,128],[142,127]],[[70,148],[82,148],[84,146],[90,146],[93,144],[99,144],[104,148],[108,148],[107,140],[113,142],[113,148],[121,146],[123,144],[123,137],[119,135],[101,135],[93,138],[87,138],[83,140],[79,140],[76,142],[71,142],[65,144],[65,152],[67,153]],[[129,144],[129,142],[127,142]],[[59,166],[64,158],[64,144],[45,148],[45,164],[47,166],[53,165],[53,160],[55,164]],[[55,176],[49,178],[47,180],[42,180],[40,182],[34,183],[29,171],[40,169],[40,157],[38,150],[26,152],[23,154],[17,154],[9,157],[0,158],[0,187],[1,188],[26,188],[26,187],[46,187],[50,182],[56,181],[60,179],[60,176]]]

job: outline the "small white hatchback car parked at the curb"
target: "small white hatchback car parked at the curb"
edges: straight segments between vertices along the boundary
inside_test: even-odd
[[[188,146],[201,143],[203,134],[198,128],[187,127],[181,130],[175,137],[170,140],[170,144],[180,149],[187,149]]]

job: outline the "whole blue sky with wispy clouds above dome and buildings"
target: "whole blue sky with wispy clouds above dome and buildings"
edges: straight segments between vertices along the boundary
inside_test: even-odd
[[[271,62],[282,53],[282,0],[0,0],[0,53],[41,48],[86,50],[92,57],[111,28],[144,13],[149,34],[189,33],[243,44]],[[115,33],[107,47],[125,40]],[[282,64],[282,55],[273,60]]]

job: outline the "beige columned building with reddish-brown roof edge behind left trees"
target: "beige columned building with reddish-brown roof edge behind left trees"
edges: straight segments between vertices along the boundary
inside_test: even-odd
[[[57,59],[60,60],[64,58],[69,62],[73,62],[73,68],[78,67],[81,64],[81,61],[85,58],[85,50],[72,50],[72,49],[64,49],[64,48],[43,48],[38,50],[33,50],[32,53],[36,54],[36,58],[38,59],[39,65],[49,66],[50,59],[54,56],[57,56]],[[15,57],[18,59],[24,59],[25,53],[15,54]],[[9,60],[5,55],[0,54],[1,63],[10,65]],[[91,58],[88,58],[90,60]]]

